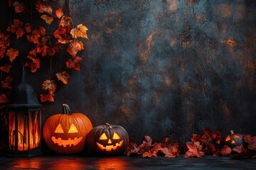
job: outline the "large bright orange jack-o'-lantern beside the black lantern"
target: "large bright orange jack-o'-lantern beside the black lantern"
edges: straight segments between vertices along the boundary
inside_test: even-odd
[[[72,113],[63,104],[64,114],[50,116],[43,126],[43,139],[48,147],[59,154],[75,154],[85,148],[85,138],[92,123],[82,113]]]

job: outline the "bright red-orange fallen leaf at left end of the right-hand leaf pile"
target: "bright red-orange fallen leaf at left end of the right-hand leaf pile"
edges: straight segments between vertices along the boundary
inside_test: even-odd
[[[204,153],[201,151],[202,145],[200,145],[200,142],[186,142],[186,147],[188,147],[188,151],[184,154],[184,157],[203,157]]]

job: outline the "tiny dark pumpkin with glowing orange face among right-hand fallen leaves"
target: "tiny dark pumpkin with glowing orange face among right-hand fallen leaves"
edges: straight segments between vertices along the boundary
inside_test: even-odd
[[[243,144],[242,135],[236,134],[233,130],[230,130],[230,135],[225,138],[225,145],[233,148]]]

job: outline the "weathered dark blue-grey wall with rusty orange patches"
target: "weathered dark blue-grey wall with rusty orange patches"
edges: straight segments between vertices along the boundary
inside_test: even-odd
[[[43,104],[43,122],[68,103],[137,142],[184,142],[202,128],[256,135],[256,1],[73,0],[72,8],[90,40],[80,72]]]

